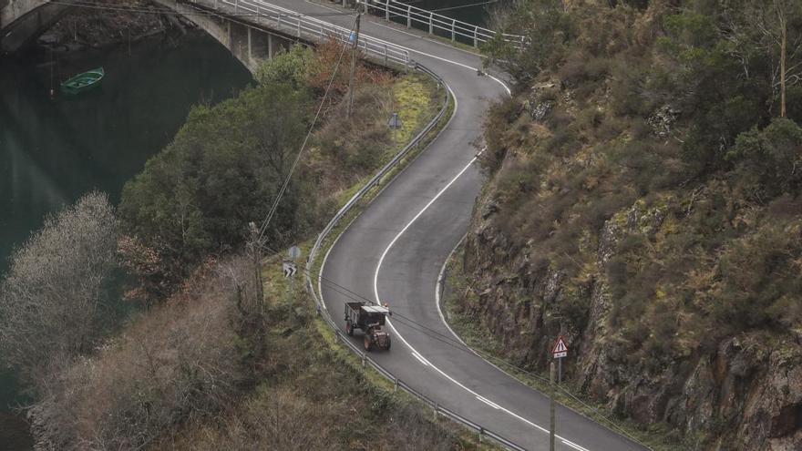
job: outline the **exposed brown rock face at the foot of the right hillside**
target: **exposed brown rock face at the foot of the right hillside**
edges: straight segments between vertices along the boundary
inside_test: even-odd
[[[607,266],[630,234],[655,234],[664,209],[641,202],[604,222],[584,284],[533,262],[498,227],[503,212],[489,190],[478,202],[464,257],[470,282],[463,307],[504,344],[505,357],[543,370],[560,333],[558,309],[577,297],[587,306],[579,327],[563,325],[571,343],[567,375],[592,399],[642,425],[666,423],[689,449],[802,449],[802,333],[742,333],[699,343],[681,358],[632,363],[617,349]],[[540,267],[540,269],[539,269]],[[667,319],[668,320],[668,319]]]

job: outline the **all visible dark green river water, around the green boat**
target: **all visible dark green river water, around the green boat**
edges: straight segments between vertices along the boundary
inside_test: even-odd
[[[410,3],[437,9],[478,2]],[[484,7],[442,14],[482,24]],[[74,98],[58,92],[59,80],[101,66],[102,87]],[[250,79],[200,32],[73,55],[31,51],[0,58],[0,273],[46,214],[89,190],[103,190],[117,203],[125,181],[170,142],[192,105],[231,97]],[[26,423],[14,414],[25,402],[14,373],[0,372],[0,451],[30,449]]]

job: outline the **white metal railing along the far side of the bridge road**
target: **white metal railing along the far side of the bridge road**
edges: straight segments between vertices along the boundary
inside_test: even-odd
[[[524,36],[499,33],[396,0],[356,0],[356,5],[357,7],[363,5],[365,13],[384,15],[387,21],[390,21],[391,18],[400,19],[402,22],[406,21],[407,28],[416,24],[423,26],[428,29],[429,35],[434,35],[436,31],[442,31],[450,35],[451,41],[456,41],[457,37],[461,36],[472,42],[474,47],[478,47],[479,44],[488,42],[496,36],[501,36],[505,41],[516,46],[522,46],[525,39]]]

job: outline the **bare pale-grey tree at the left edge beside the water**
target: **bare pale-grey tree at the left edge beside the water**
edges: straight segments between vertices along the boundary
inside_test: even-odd
[[[91,350],[117,233],[107,196],[92,192],[48,217],[14,252],[0,292],[0,351],[28,382],[46,365]]]

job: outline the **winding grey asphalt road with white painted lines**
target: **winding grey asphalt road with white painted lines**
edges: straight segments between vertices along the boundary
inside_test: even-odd
[[[325,5],[300,0],[271,0],[301,14],[331,13]],[[353,17],[319,16],[350,27]],[[366,19],[366,20],[365,20]],[[474,142],[481,135],[488,102],[505,87],[480,77],[480,57],[425,35],[364,18],[362,32],[410,49],[411,57],[446,80],[456,112],[438,138],[375,198],[339,237],[321,270],[325,280],[425,325],[393,323],[391,351],[375,361],[439,405],[531,450],[548,450],[549,399],[443,337],[452,336],[437,308],[437,276],[448,254],[468,230],[481,188]],[[344,328],[343,302],[325,283],[324,302]],[[441,334],[437,336],[437,333]],[[356,340],[356,338],[355,338]],[[563,407],[558,408],[557,449],[640,450],[642,446]]]

